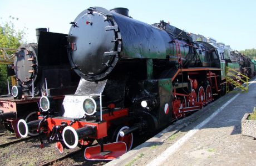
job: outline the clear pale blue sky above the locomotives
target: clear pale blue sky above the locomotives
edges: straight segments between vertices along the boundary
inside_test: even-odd
[[[160,20],[187,32],[212,37],[233,49],[256,48],[256,1],[145,1],[145,0],[0,0],[0,22],[9,15],[19,18],[16,28],[27,27],[28,42],[35,42],[35,29],[68,33],[70,22],[84,9],[100,6],[106,9],[129,8],[134,19],[145,23]]]

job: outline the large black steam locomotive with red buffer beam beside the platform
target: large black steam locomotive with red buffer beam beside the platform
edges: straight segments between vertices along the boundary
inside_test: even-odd
[[[225,91],[228,63],[216,47],[164,21],[149,25],[126,8],[91,7],[71,24],[77,90],[60,110],[51,96],[41,97],[38,120],[18,122],[22,137],[37,129],[61,153],[79,146],[86,159],[111,160],[132,148],[134,133],[153,133]]]

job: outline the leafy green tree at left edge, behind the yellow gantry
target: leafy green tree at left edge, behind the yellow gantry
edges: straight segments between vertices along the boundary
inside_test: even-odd
[[[2,18],[1,18],[2,19]],[[26,42],[26,28],[16,30],[14,22],[18,18],[9,16],[6,22],[0,23],[0,47],[1,48],[18,48],[22,43]],[[7,94],[7,66],[1,64],[0,61],[0,95]],[[11,82],[9,80],[9,82]]]

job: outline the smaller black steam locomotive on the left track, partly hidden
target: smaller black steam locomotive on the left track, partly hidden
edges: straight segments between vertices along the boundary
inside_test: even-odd
[[[17,85],[12,87],[12,96],[0,98],[0,122],[16,133],[19,119],[38,119],[38,102],[42,94],[53,96],[62,103],[64,94],[73,94],[79,77],[71,70],[67,57],[67,34],[47,32],[38,28],[37,44],[22,45],[12,66]],[[36,131],[29,135],[36,136]]]

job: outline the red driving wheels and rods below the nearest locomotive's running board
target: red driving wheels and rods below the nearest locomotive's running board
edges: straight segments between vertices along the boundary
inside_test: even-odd
[[[221,70],[213,68],[179,69],[172,78],[174,84],[172,103],[174,118],[200,110],[219,95]]]

